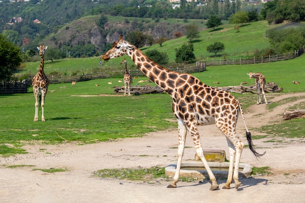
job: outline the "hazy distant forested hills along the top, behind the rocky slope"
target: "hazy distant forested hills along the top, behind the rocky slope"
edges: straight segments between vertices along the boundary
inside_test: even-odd
[[[152,20],[180,18],[180,19],[204,19],[217,16],[221,20],[230,20],[232,16],[240,11],[247,12],[248,21],[267,19],[269,23],[280,23],[284,20],[302,21],[305,17],[304,0],[273,0],[265,4],[248,3],[241,0],[197,0],[187,2],[181,0],[180,7],[173,9],[172,3],[167,0],[30,0],[23,2],[10,2],[3,0],[0,3],[0,32],[7,40],[16,44],[27,56],[37,54],[36,46],[41,41],[49,40],[53,36],[57,49],[73,50],[73,57],[80,57],[76,53],[87,52],[85,56],[91,56],[98,51],[104,51],[109,43],[110,35],[129,32],[130,30],[144,32],[145,26],[141,21],[133,20],[125,22],[130,26],[122,29],[106,29],[107,16],[150,18]],[[86,16],[100,16],[97,20],[87,23],[90,33],[77,33],[77,27],[70,25],[77,19]],[[81,26],[84,26],[83,24]],[[141,27],[142,26],[142,27]],[[76,33],[70,32],[67,39],[57,41],[55,34],[60,32],[69,34],[69,30],[76,29]],[[93,31],[92,31],[93,30]],[[161,29],[159,29],[161,30]],[[158,32],[158,31],[155,31]],[[181,30],[180,30],[181,32]],[[77,43],[72,38],[77,39]],[[157,37],[171,38],[171,36]],[[92,38],[97,40],[97,46]],[[86,38],[85,38],[86,37]],[[91,38],[90,38],[91,37]],[[52,40],[51,38],[51,40]],[[79,50],[80,48],[84,50]],[[62,57],[65,57],[63,55]]]

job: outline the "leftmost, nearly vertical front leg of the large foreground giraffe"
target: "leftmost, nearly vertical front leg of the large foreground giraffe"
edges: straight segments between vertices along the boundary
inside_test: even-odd
[[[184,153],[185,138],[187,136],[186,126],[180,120],[177,119],[177,121],[178,121],[178,133],[179,133],[178,161],[177,161],[175,175],[174,175],[170,185],[167,186],[168,188],[177,187],[176,184],[179,181],[179,173],[180,173],[181,162],[182,162],[182,157],[183,157],[183,153]]]

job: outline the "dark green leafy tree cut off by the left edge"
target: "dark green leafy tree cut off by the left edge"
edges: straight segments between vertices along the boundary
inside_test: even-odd
[[[0,34],[0,82],[7,82],[21,63],[21,53],[17,45],[12,44]]]

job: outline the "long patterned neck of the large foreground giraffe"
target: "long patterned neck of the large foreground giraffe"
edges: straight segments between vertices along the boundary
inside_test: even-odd
[[[179,77],[179,73],[158,65],[137,48],[128,50],[127,55],[132,58],[134,64],[150,78],[152,82],[172,95],[172,92],[175,91],[175,80]]]

